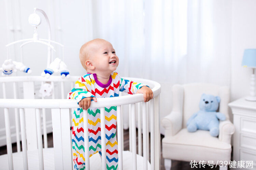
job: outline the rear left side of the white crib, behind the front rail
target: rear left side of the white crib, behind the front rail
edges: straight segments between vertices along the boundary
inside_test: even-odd
[[[35,83],[36,82],[41,82],[41,85],[45,82],[50,82],[52,86],[52,99],[61,98],[61,99],[66,99],[66,94],[65,93],[65,86],[64,84],[70,84],[71,88],[69,87],[68,90],[72,89],[74,87],[75,81],[78,79],[77,76],[71,76],[70,79],[62,79],[61,76],[51,76],[49,79],[43,78],[41,76],[9,76],[9,77],[0,77],[0,82],[2,84],[2,90],[3,90],[3,99],[5,98],[13,98],[17,99],[19,96],[19,93],[17,93],[17,88],[19,88],[19,83],[23,84],[23,93],[24,93],[24,99],[34,99],[35,98]],[[55,95],[55,88],[57,88],[57,83],[59,84],[59,89],[60,89],[60,95],[56,96]],[[12,88],[10,88],[12,86]],[[55,87],[56,86],[56,87]],[[7,87],[7,88],[6,88]],[[20,91],[20,90],[18,90]],[[13,92],[13,96],[11,96],[11,93]],[[6,95],[7,93],[7,95]],[[41,99],[44,99],[42,96]],[[42,118],[43,118],[43,135],[44,135],[44,148],[47,148],[47,129],[46,129],[46,111],[45,108],[42,108]],[[18,115],[18,110],[15,108],[15,132],[16,132],[16,142],[17,142],[17,151],[20,152],[20,135],[19,135],[19,115]],[[26,113],[32,113],[33,110],[31,109],[26,109]],[[32,115],[31,117],[26,116],[26,121],[31,121],[32,119],[35,119],[35,115]],[[51,120],[50,120],[51,121]],[[35,126],[35,123],[31,122],[32,126]],[[51,131],[51,130],[50,130]],[[27,141],[28,141],[28,150],[33,150],[37,148],[36,139],[32,138],[31,136],[35,135],[35,129],[28,129],[26,130],[28,134],[27,136]]]

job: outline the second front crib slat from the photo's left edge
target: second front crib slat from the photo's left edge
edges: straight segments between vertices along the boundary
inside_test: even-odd
[[[28,154],[27,154],[27,141],[26,141],[26,125],[24,109],[19,109],[20,114],[20,132],[22,135],[22,154],[23,154],[23,168],[28,170]]]

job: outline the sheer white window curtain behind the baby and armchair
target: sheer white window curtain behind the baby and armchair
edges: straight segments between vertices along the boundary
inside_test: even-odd
[[[87,1],[87,39],[110,41],[117,72],[161,84],[161,118],[173,84],[230,84],[231,0]],[[161,133],[163,129],[161,128]]]

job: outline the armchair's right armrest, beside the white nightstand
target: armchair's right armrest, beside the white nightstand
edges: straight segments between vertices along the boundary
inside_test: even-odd
[[[220,121],[219,123],[219,140],[231,143],[231,136],[234,133],[234,125],[229,120]]]

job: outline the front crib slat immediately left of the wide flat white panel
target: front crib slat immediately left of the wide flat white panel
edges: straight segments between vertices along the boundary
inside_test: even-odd
[[[35,116],[37,119],[37,143],[38,143],[38,155],[39,155],[39,169],[44,169],[44,158],[43,158],[43,142],[42,142],[42,130],[41,130],[41,116],[40,109],[35,109]]]

